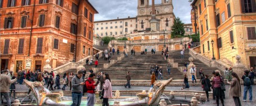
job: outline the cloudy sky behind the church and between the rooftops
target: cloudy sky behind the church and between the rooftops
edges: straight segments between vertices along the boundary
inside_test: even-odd
[[[99,12],[95,15],[95,21],[111,20],[119,18],[135,17],[137,15],[138,0],[89,0]],[[149,0],[151,1],[151,0]],[[156,4],[161,0],[155,0]],[[172,0],[173,11],[176,17],[180,17],[184,23],[190,21],[190,3],[188,0]],[[151,3],[150,3],[151,4]]]

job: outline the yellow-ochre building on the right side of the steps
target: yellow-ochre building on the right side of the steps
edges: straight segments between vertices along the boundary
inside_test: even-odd
[[[209,59],[236,62],[246,68],[256,61],[255,0],[194,0],[200,31],[200,51]],[[213,41],[213,45],[212,42]],[[213,46],[213,49],[212,49]]]

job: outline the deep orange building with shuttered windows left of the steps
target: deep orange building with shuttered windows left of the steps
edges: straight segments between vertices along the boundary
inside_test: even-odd
[[[43,70],[92,55],[97,10],[88,0],[0,0],[1,70]],[[30,63],[29,63],[30,62]]]

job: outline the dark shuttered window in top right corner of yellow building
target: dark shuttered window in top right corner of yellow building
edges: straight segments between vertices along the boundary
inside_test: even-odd
[[[241,0],[242,13],[256,12],[255,0]]]

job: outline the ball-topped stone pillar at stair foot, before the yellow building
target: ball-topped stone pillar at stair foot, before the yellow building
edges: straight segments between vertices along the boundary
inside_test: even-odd
[[[244,71],[246,70],[245,66],[241,64],[240,61],[241,57],[239,55],[236,55],[236,64],[233,67],[233,71],[238,75],[238,76],[243,76]]]

